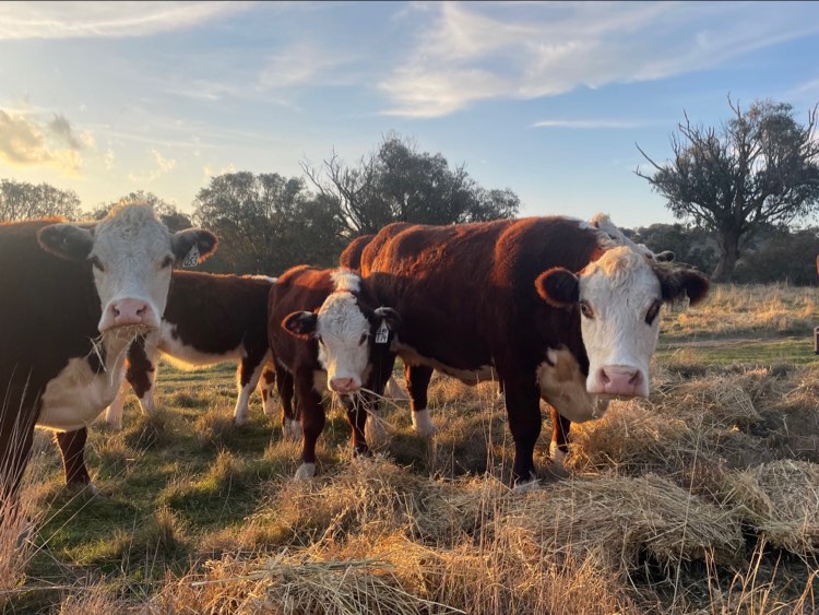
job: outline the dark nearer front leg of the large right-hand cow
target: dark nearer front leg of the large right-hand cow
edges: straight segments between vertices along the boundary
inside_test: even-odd
[[[509,429],[514,440],[512,478],[515,483],[536,480],[534,450],[541,436],[541,398],[534,378],[531,380],[507,380],[503,383]]]

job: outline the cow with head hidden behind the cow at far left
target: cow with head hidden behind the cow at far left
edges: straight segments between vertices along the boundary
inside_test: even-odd
[[[175,271],[168,305],[158,331],[138,338],[128,351],[126,381],[105,419],[122,427],[122,406],[133,389],[145,414],[156,409],[154,382],[162,354],[171,364],[190,369],[226,360],[238,360],[238,389],[234,421],[248,421],[250,393],[260,382],[262,368],[271,362],[268,346],[268,297],[275,279],[262,275],[217,275]],[[274,382],[262,385],[264,412],[272,416]]]

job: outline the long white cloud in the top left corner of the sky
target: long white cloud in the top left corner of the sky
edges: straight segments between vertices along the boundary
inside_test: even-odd
[[[147,36],[223,17],[249,2],[0,2],[0,40]]]

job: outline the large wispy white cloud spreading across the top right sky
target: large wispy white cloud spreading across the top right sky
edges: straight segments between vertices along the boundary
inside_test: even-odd
[[[440,117],[479,100],[663,79],[819,32],[819,3],[437,3],[379,87],[384,113]]]

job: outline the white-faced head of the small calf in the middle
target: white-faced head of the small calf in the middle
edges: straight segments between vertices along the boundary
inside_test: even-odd
[[[351,394],[368,383],[373,364],[389,353],[400,318],[392,308],[376,307],[365,282],[355,273],[337,270],[332,279],[335,291],[317,312],[293,312],[282,327],[298,338],[316,338],[328,387]],[[383,382],[369,385],[380,388]]]

